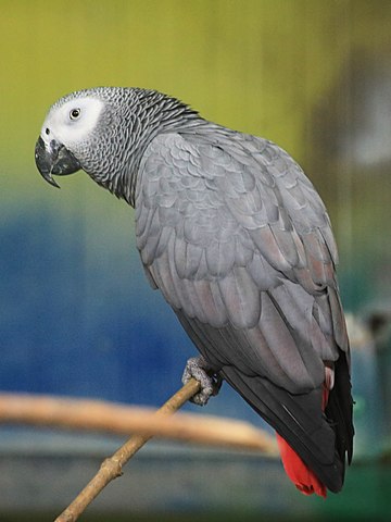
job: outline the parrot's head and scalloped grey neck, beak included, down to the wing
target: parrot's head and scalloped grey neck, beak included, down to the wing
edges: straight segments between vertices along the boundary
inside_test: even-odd
[[[150,140],[197,116],[180,101],[149,89],[96,87],[72,92],[49,110],[35,148],[36,164],[55,187],[53,175],[83,170],[133,204],[135,173]]]

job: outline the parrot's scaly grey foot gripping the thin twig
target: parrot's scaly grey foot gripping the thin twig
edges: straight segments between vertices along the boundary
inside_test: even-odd
[[[212,396],[218,394],[223,384],[223,378],[213,371],[202,356],[192,357],[187,361],[182,383],[186,384],[190,378],[195,378],[201,384],[201,391],[190,399],[199,406],[205,406]]]

